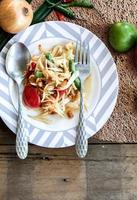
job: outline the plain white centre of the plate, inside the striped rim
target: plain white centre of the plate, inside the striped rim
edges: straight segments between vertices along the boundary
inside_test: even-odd
[[[38,55],[38,45],[42,44],[44,47],[48,47],[48,49],[51,49],[54,45],[57,44],[65,44],[67,42],[70,42],[71,40],[65,39],[65,38],[46,38],[37,42],[34,42],[30,46],[28,46],[28,49],[31,53],[31,55]],[[91,76],[87,79],[85,83],[85,93],[88,99],[88,111],[85,112],[85,117],[91,115],[92,111],[94,110],[100,96],[100,89],[101,89],[101,80],[99,76],[99,71],[96,66],[96,63],[92,60],[91,57],[91,71],[92,71],[92,78]],[[16,87],[16,84],[13,82],[12,79],[10,79],[9,83],[9,93],[12,99],[12,104],[14,105],[16,111],[18,110],[18,90]],[[78,124],[78,112],[75,112],[74,117],[72,119],[68,118],[61,118],[58,115],[52,115],[50,116],[50,124],[45,124],[43,122],[37,121],[32,119],[29,116],[34,116],[37,113],[34,112],[32,109],[27,109],[24,107],[25,110],[25,119],[28,121],[31,125],[35,124],[35,126],[39,129],[44,129],[48,131],[66,131],[68,129],[75,128]]]

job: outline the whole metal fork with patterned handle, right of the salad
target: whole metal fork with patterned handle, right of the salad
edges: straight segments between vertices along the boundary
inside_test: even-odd
[[[75,148],[77,155],[80,158],[84,158],[88,150],[88,140],[86,138],[85,131],[85,119],[84,119],[84,99],[83,99],[83,87],[84,81],[90,74],[90,52],[89,45],[85,48],[85,45],[82,46],[82,43],[76,44],[76,53],[74,59],[76,68],[79,70],[79,78],[81,81],[80,89],[80,113],[79,113],[79,122],[77,128],[77,135],[75,141]]]

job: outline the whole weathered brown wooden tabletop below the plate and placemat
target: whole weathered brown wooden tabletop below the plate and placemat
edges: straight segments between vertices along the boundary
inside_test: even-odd
[[[31,146],[26,160],[13,145],[0,145],[0,152],[2,200],[137,199],[137,145],[90,145],[84,160],[74,148]]]

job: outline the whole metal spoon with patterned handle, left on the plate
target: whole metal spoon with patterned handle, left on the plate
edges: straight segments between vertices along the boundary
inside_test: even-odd
[[[28,139],[29,133],[25,128],[22,110],[22,93],[21,83],[24,78],[23,72],[27,63],[30,61],[31,55],[27,47],[20,42],[14,43],[6,56],[6,70],[9,76],[15,80],[18,85],[19,107],[18,121],[16,130],[16,152],[19,158],[25,159],[28,155]]]

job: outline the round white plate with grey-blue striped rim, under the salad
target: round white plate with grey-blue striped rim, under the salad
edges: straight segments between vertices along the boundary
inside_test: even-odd
[[[95,134],[110,117],[118,94],[118,75],[111,54],[101,40],[93,33],[68,22],[46,22],[33,25],[13,37],[0,56],[0,114],[6,125],[16,131],[17,88],[5,72],[5,57],[9,47],[16,41],[23,42],[31,54],[37,54],[38,44],[46,48],[68,41],[82,40],[90,45],[92,79],[87,82],[88,112],[85,113],[87,137]],[[53,116],[51,124],[28,117],[32,110],[26,110],[25,121],[30,132],[30,142],[44,147],[67,147],[75,143],[78,112],[74,118]]]

